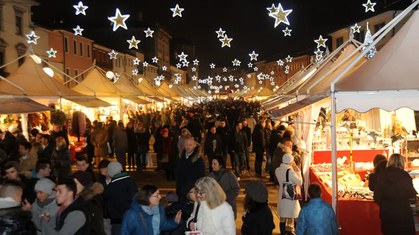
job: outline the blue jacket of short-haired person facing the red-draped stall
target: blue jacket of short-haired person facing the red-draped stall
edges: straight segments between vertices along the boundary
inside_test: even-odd
[[[311,199],[298,215],[296,235],[338,235],[338,222],[332,206],[321,198]]]

